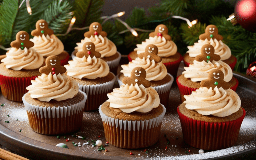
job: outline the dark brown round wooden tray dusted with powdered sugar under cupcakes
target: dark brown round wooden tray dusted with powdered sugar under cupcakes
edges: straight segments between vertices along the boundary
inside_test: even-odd
[[[182,69],[181,66],[178,73],[181,73]],[[23,103],[9,101],[2,94],[0,94],[0,103],[4,103],[4,106],[0,107],[0,144],[33,159],[239,159],[251,157],[256,153],[256,79],[240,73],[234,73],[233,76],[239,80],[236,92],[241,98],[241,106],[246,110],[238,141],[234,147],[198,154],[199,149],[184,143],[176,112],[180,104],[180,95],[175,83],[171,88],[170,105],[166,106],[167,112],[162,122],[159,141],[151,147],[130,150],[111,145],[105,146],[104,129],[98,111],[84,112],[83,125],[75,133],[60,135],[60,138],[57,138],[57,135],[38,134],[29,127]],[[9,123],[5,122],[7,120]],[[76,135],[85,136],[86,139],[82,140]],[[70,141],[66,142],[64,136],[70,138]],[[98,151],[97,146],[91,146],[91,141],[98,139],[103,142],[107,152]],[[90,141],[90,145],[78,147],[72,144],[72,142],[82,144],[87,141]],[[56,147],[58,143],[67,144],[69,149]],[[167,149],[165,149],[166,146]],[[148,153],[144,152],[144,149]],[[130,155],[130,152],[133,155]]]

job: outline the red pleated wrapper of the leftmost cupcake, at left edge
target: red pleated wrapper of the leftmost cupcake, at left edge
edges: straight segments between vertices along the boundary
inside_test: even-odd
[[[31,80],[37,76],[14,78],[0,75],[0,86],[2,94],[9,100],[22,102],[22,96],[28,92],[27,86],[31,85]]]

